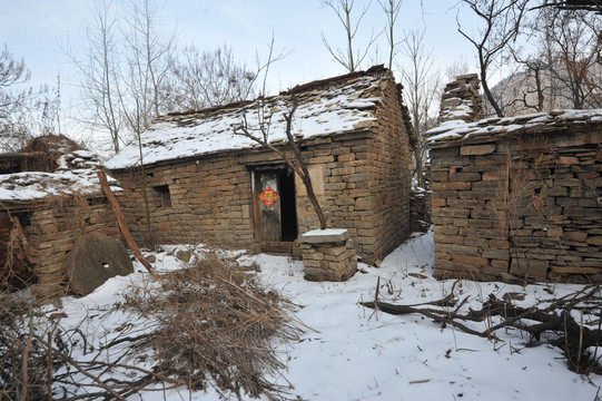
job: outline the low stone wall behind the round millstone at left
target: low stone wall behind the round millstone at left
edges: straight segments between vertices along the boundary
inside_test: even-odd
[[[52,297],[66,290],[67,254],[80,236],[101,233],[121,241],[117,219],[105,198],[57,198],[18,215],[36,262],[40,297]]]

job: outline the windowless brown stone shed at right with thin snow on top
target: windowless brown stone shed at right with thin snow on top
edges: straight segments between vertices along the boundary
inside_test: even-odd
[[[455,84],[427,133],[436,276],[601,282],[602,109],[471,121]]]

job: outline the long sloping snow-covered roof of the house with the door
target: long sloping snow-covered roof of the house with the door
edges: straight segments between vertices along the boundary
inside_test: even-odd
[[[251,130],[264,123],[270,143],[285,140],[285,114],[297,102],[292,133],[297,139],[347,133],[369,127],[374,106],[382,100],[382,82],[388,70],[373,67],[365,72],[309,82],[269,98],[233,104],[187,114],[167,115],[141,135],[145,165],[231,149],[257,147],[236,134],[245,120]],[[257,133],[257,131],[256,131]],[[125,147],[106,163],[109,169],[137,166],[138,143]]]

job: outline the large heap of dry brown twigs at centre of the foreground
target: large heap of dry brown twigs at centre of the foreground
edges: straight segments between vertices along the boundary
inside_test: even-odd
[[[270,342],[298,340],[303,331],[290,315],[293,304],[267,291],[255,272],[209,252],[124,296],[122,307],[156,324],[149,344],[160,374],[193,389],[210,379],[238,395],[285,390],[264,379],[285,368]]]

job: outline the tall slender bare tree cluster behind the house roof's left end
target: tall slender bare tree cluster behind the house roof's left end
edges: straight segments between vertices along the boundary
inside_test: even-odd
[[[80,75],[86,109],[80,121],[108,133],[115,153],[132,138],[139,117],[144,129],[165,111],[161,86],[175,36],[162,33],[159,12],[152,0],[132,1],[129,13],[112,0],[92,0],[83,49],[63,48]]]

